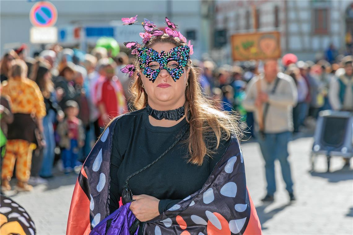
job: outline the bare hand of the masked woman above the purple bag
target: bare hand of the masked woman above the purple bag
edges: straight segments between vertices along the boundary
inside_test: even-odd
[[[149,221],[159,215],[159,199],[145,194],[133,195],[130,210],[141,221]]]

